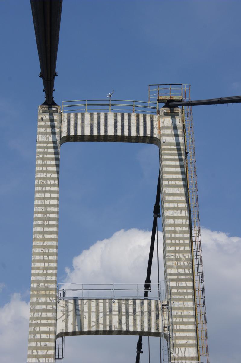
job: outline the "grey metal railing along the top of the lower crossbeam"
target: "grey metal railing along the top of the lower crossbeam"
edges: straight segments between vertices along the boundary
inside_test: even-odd
[[[144,284],[58,284],[58,301],[68,299],[142,299]],[[170,299],[170,287],[165,281],[151,284],[145,299]]]

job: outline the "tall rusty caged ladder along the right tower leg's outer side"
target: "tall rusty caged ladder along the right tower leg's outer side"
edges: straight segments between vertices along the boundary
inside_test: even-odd
[[[185,95],[186,96],[186,95]],[[190,98],[185,98],[187,101]],[[185,126],[186,138],[186,160],[187,160],[187,179],[191,217],[191,240],[193,248],[193,267],[194,267],[194,285],[195,285],[195,309],[196,309],[196,328],[197,341],[200,360],[206,358],[209,363],[208,353],[208,338],[207,338],[207,318],[206,318],[206,303],[204,293],[203,279],[203,259],[202,259],[202,244],[200,233],[199,206],[198,206],[198,185],[196,174],[196,159],[195,159],[195,143],[194,143],[194,126],[193,126],[193,111],[191,106],[182,107],[183,121]]]

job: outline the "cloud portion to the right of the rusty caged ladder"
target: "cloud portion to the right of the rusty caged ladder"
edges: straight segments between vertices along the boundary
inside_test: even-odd
[[[202,247],[211,362],[240,362],[241,238],[203,228]]]

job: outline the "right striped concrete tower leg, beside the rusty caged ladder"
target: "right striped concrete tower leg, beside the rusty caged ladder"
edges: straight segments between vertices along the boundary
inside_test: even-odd
[[[172,298],[172,362],[198,361],[185,145],[179,109],[160,110],[161,213],[165,280]]]

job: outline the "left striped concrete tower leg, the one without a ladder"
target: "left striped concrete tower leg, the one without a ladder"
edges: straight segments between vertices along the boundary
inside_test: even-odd
[[[38,109],[28,362],[55,362],[60,107]]]

